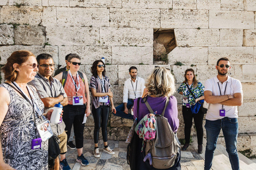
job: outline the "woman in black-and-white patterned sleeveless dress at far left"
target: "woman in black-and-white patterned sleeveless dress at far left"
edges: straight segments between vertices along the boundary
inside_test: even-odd
[[[50,120],[53,111],[44,114],[36,89],[27,85],[38,71],[36,57],[27,50],[15,51],[2,71],[6,81],[0,85],[0,169],[48,169],[48,140],[33,145],[41,139],[36,125]]]

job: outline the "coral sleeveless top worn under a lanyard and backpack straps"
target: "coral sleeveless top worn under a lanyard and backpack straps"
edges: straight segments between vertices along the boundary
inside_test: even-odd
[[[79,76],[79,75],[78,75]],[[74,80],[76,81],[76,84],[78,84],[78,81],[76,80],[76,76],[73,77]],[[86,97],[85,97],[85,87],[84,87],[84,82],[82,80],[82,78],[79,76],[79,83],[80,83],[80,89],[78,90],[77,92],[77,96],[83,96],[83,104],[86,103]],[[64,87],[64,90],[67,94],[68,97],[73,97],[73,96],[76,96],[76,88],[75,88],[75,84],[73,83],[73,80],[71,78],[71,75],[68,74],[68,77],[67,77],[67,81],[66,81],[66,84],[65,84],[65,87]],[[68,100],[68,104],[69,105],[73,105],[73,100]]]

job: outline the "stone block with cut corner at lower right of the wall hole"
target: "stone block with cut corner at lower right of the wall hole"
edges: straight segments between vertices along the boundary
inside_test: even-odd
[[[208,60],[207,47],[176,47],[168,54],[168,63],[181,62],[185,65],[205,65]]]

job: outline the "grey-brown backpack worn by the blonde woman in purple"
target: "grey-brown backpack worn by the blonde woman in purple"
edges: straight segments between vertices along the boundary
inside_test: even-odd
[[[147,101],[145,101],[145,104],[150,113],[154,113]],[[151,165],[157,169],[167,169],[172,167],[180,148],[167,118],[164,117],[164,112],[168,104],[169,97],[166,99],[162,115],[155,115],[156,136],[155,139],[146,142],[146,156],[143,159],[144,162],[149,159],[149,164],[151,162]]]

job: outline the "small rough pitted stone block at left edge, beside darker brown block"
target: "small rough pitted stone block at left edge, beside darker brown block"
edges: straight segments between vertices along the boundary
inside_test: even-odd
[[[3,24],[0,25],[0,45],[12,45],[14,32],[13,25]]]

